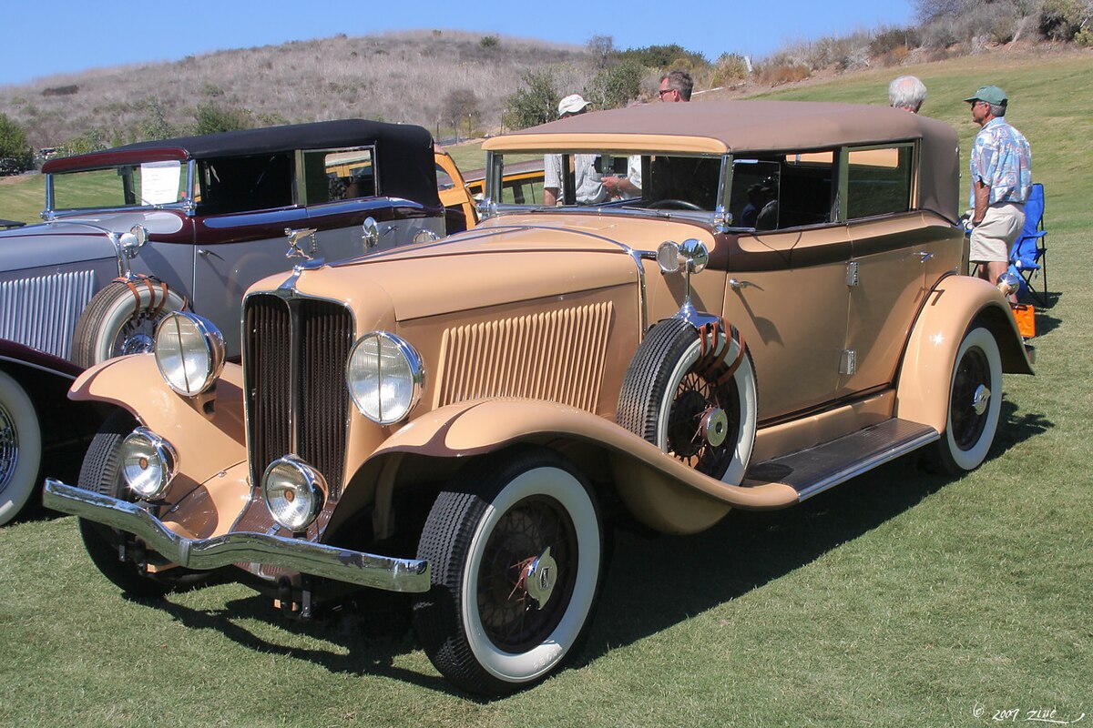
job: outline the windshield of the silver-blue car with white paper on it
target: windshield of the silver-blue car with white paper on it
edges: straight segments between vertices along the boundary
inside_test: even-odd
[[[185,202],[186,176],[178,160],[125,164],[55,172],[54,210],[117,210]]]

